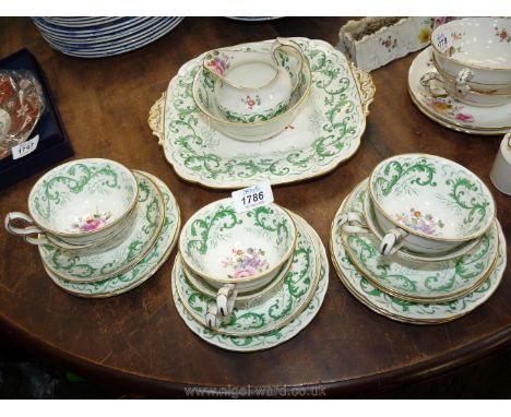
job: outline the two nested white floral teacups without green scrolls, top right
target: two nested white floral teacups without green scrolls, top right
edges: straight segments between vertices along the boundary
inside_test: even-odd
[[[473,106],[511,100],[511,22],[468,17],[451,21],[431,33],[435,67],[421,83],[439,81],[449,95]]]

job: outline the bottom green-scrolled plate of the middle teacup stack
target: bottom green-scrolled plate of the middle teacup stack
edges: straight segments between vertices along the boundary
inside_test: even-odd
[[[305,225],[307,225],[305,221],[302,222]],[[187,311],[177,294],[175,282],[173,279],[173,297],[176,303],[176,309],[178,310],[179,315],[185,321],[187,326],[200,338],[214,346],[227,350],[242,353],[263,350],[275,347],[284,342],[289,341],[299,332],[301,332],[312,321],[316,314],[318,314],[329,285],[329,261],[326,258],[326,251],[318,234],[308,225],[307,228],[311,240],[314,240],[314,245],[317,245],[320,248],[319,254],[321,267],[319,281],[312,299],[307,305],[305,310],[299,315],[297,315],[290,323],[286,324],[281,329],[274,330],[269,333],[259,334],[255,336],[228,336],[225,334],[219,334],[214,330],[207,329],[200,324],[197,320],[194,320],[193,315],[191,315]]]

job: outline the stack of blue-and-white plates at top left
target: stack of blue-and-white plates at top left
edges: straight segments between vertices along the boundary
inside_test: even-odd
[[[102,58],[158,39],[183,17],[33,17],[43,37],[62,53]]]

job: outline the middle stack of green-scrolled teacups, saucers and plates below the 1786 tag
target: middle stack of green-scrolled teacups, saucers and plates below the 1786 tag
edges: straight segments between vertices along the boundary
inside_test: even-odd
[[[183,226],[173,296],[202,339],[228,350],[261,350],[309,324],[328,273],[324,247],[302,218],[276,204],[237,213],[225,199]]]

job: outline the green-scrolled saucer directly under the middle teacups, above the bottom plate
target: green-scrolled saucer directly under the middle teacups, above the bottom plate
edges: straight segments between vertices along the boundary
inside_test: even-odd
[[[293,263],[283,285],[261,300],[249,299],[236,306],[228,322],[214,329],[215,332],[229,336],[254,336],[283,327],[296,318],[310,302],[320,275],[319,248],[305,226],[295,217],[297,241]],[[204,313],[215,298],[207,297],[190,284],[180,258],[175,262],[173,279],[176,289],[188,312],[203,326],[206,326]]]

